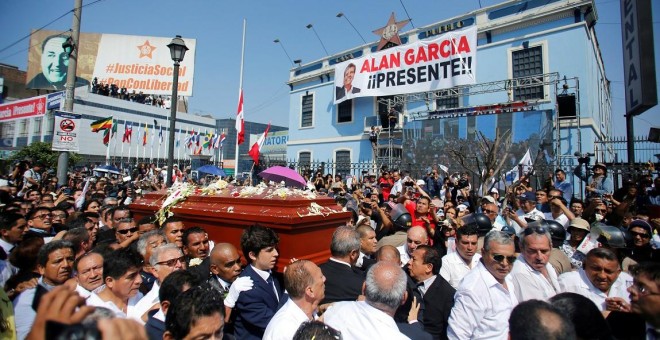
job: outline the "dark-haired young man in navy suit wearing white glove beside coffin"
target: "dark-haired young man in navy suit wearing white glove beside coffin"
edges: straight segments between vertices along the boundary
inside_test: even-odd
[[[241,235],[243,256],[249,265],[240,277],[250,277],[254,286],[241,292],[236,301],[234,335],[237,339],[261,339],[268,322],[287,300],[272,272],[279,256],[278,243],[277,234],[260,225],[249,227]]]

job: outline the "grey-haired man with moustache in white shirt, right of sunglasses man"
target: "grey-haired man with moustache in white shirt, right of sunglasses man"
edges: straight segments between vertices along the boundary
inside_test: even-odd
[[[550,232],[538,225],[530,223],[519,235],[521,252],[509,274],[518,302],[548,301],[561,291],[557,273],[548,262],[552,251]]]

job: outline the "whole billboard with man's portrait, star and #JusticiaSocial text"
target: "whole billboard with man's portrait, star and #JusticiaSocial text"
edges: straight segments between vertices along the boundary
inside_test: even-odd
[[[63,90],[69,56],[62,44],[68,32],[33,31],[26,87]],[[125,87],[129,93],[172,94],[174,69],[167,45],[172,38],[81,33],[76,86],[99,83]],[[188,51],[179,69],[179,95],[192,96],[196,40],[184,38]]]

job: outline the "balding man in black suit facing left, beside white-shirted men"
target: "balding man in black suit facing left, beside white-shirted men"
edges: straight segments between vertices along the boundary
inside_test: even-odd
[[[456,290],[438,275],[442,259],[435,248],[421,245],[408,262],[410,276],[422,297],[418,320],[434,339],[447,339],[447,320],[454,307]]]

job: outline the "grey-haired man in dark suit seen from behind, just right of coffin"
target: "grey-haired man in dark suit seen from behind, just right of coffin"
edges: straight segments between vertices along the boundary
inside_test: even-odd
[[[330,260],[319,267],[325,276],[325,299],[321,304],[355,301],[362,293],[365,274],[355,268],[360,256],[360,236],[350,227],[339,227],[332,234]]]

